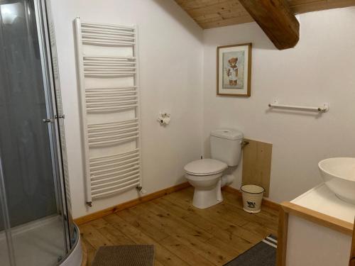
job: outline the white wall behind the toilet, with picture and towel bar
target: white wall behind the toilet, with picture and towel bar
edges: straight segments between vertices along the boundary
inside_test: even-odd
[[[270,199],[295,198],[322,182],[317,162],[355,156],[355,9],[300,15],[300,42],[275,50],[256,23],[204,31],[204,155],[209,131],[233,127],[273,143]],[[251,97],[216,96],[216,47],[253,43]],[[268,111],[280,103],[329,102],[322,116]],[[234,187],[241,184],[241,166]]]

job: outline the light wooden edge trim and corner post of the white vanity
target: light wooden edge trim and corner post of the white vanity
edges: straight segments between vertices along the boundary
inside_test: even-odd
[[[286,265],[287,241],[288,241],[288,217],[290,215],[303,218],[320,226],[330,228],[334,231],[353,235],[353,224],[334,218],[327,214],[322,214],[312,209],[307,209],[291,202],[283,202],[280,204],[280,214],[278,222],[278,253],[277,266]],[[350,264],[351,265],[351,264]],[[353,265],[351,265],[353,266]]]

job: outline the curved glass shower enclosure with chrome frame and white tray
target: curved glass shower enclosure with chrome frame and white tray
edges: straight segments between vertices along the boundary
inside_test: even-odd
[[[0,0],[0,265],[57,265],[70,214],[55,36],[45,0]]]

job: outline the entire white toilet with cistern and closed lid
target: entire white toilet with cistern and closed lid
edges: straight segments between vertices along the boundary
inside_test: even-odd
[[[206,209],[223,201],[221,188],[233,182],[232,174],[223,174],[229,166],[239,164],[243,133],[234,129],[211,132],[212,159],[195,160],[185,165],[185,177],[195,187],[192,204]]]

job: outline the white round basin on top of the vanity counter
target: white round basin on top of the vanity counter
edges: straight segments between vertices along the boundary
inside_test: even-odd
[[[329,158],[318,163],[324,183],[339,199],[355,204],[355,158]]]

